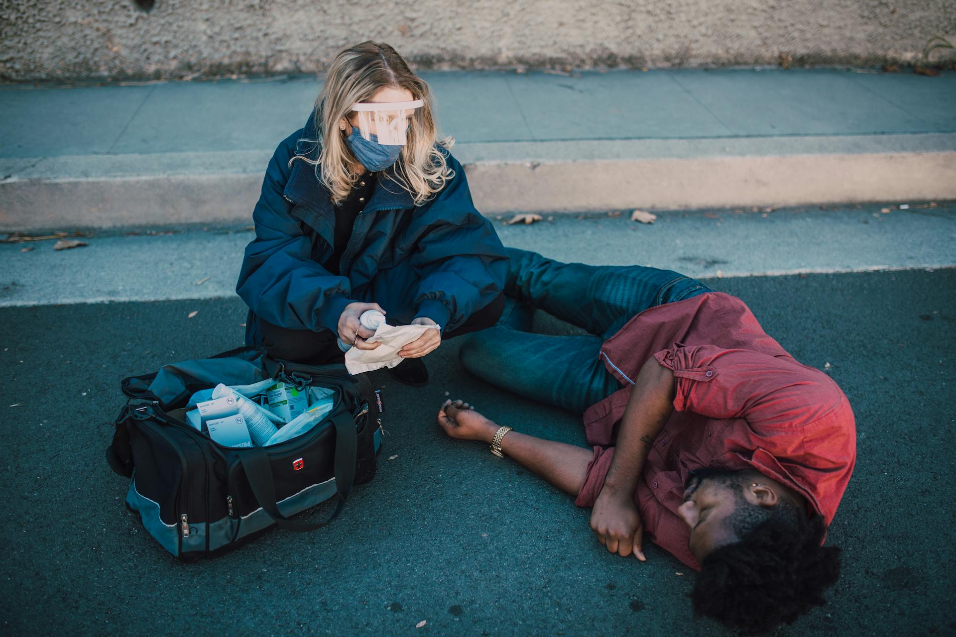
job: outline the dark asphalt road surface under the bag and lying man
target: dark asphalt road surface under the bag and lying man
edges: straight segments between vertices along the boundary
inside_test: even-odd
[[[778,634],[956,634],[956,269],[708,284],[747,301],[801,361],[829,363],[857,414],[857,470],[829,535],[841,579]],[[330,528],[178,563],[103,459],[120,379],[235,347],[244,320],[238,299],[0,309],[5,632],[728,634],[693,619],[693,573],[663,550],[643,564],[609,555],[570,498],[441,434],[434,414],[450,394],[584,444],[576,416],[469,378],[455,341],[426,359],[425,388],[377,376],[380,471]]]

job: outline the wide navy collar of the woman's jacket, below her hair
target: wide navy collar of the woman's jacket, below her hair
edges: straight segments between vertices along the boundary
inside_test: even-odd
[[[304,139],[317,138],[315,134],[315,113],[309,116],[302,133]],[[296,142],[295,154],[299,157],[317,159],[319,148],[318,143],[299,140]],[[332,195],[329,193],[329,189],[318,179],[321,175],[321,169],[321,165],[316,166],[307,161],[293,161],[293,171],[289,176],[283,194],[291,202],[309,207],[318,215],[334,220],[335,206],[332,204]],[[376,184],[375,192],[363,212],[415,207],[415,201],[411,194],[394,181],[397,179],[394,165],[382,171],[378,179],[379,182]]]

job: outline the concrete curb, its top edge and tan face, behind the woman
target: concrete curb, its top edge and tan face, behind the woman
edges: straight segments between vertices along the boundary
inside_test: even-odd
[[[487,215],[956,199],[956,134],[462,143]],[[0,231],[248,223],[272,151],[4,159]]]

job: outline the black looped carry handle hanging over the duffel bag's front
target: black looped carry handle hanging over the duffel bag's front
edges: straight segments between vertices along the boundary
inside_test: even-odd
[[[356,449],[358,446],[356,423],[348,412],[341,412],[332,416],[336,426],[336,457],[334,460],[336,474],[336,510],[324,522],[303,522],[290,520],[279,512],[275,496],[275,482],[272,479],[272,464],[269,455],[261,447],[253,447],[239,454],[243,470],[252,489],[252,495],[259,501],[259,506],[266,512],[279,528],[287,531],[315,531],[329,524],[338,517],[345,500],[352,490],[352,483],[356,475]]]

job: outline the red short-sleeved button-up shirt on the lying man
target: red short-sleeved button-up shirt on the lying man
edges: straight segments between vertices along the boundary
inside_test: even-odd
[[[614,456],[614,427],[652,356],[673,370],[674,412],[644,463],[635,501],[645,537],[692,568],[677,515],[684,482],[705,466],[753,468],[802,494],[827,524],[857,459],[850,403],[825,373],[801,365],[743,301],[708,292],[642,311],[601,347],[624,386],[584,413],[595,457],[576,504],[592,506]]]

